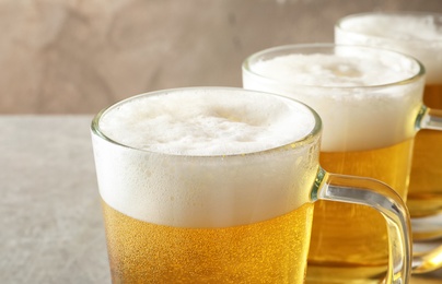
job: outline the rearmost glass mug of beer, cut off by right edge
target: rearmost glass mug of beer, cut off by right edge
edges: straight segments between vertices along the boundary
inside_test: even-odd
[[[442,109],[442,13],[349,15],[336,24],[335,42],[383,47],[416,57],[427,72],[423,102]],[[424,225],[422,218],[442,213],[442,132],[419,131],[412,159],[407,205],[417,217],[415,238],[442,237],[442,222],[438,228]]]

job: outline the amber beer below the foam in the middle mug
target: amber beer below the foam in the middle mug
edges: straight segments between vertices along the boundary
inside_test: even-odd
[[[412,140],[362,152],[321,153],[330,173],[372,177],[407,194]],[[388,263],[386,223],[371,208],[315,203],[307,279],[310,283],[351,283],[385,275]],[[347,280],[347,281],[345,281]],[[354,283],[356,283],[354,282]]]

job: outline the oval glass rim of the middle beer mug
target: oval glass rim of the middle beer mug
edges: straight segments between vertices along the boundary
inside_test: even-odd
[[[284,85],[289,85],[289,86],[299,86],[299,87],[309,87],[309,88],[324,88],[324,90],[375,90],[375,88],[385,88],[385,87],[389,87],[389,86],[397,86],[397,85],[404,85],[404,84],[409,84],[412,82],[416,82],[418,80],[420,80],[422,76],[426,75],[426,68],[422,64],[422,62],[420,62],[418,59],[416,59],[412,56],[409,55],[405,55],[403,52],[396,51],[396,50],[391,50],[387,48],[380,48],[380,47],[371,47],[371,46],[363,46],[363,45],[340,45],[340,44],[333,44],[333,43],[315,43],[315,44],[291,44],[291,45],[281,45],[281,46],[275,46],[275,47],[270,47],[267,49],[263,49],[260,51],[257,51],[255,54],[252,54],[251,56],[248,56],[242,63],[242,69],[243,71],[254,75],[254,76],[258,76],[260,80],[263,81],[267,81],[267,82],[280,82],[278,79],[272,79],[266,75],[263,75],[258,72],[256,72],[255,70],[253,70],[253,61],[255,59],[258,59],[265,55],[268,54],[272,54],[272,52],[278,52],[278,51],[282,51],[282,50],[293,50],[295,51],[296,49],[306,49],[306,48],[311,48],[311,49],[324,49],[324,48],[329,48],[330,50],[333,48],[358,48],[358,49],[368,49],[368,50],[373,50],[376,52],[385,52],[385,54],[391,54],[391,55],[395,55],[395,56],[400,56],[403,58],[406,58],[412,62],[415,62],[418,67],[418,72],[415,73],[414,75],[410,75],[406,79],[403,80],[398,80],[392,83],[385,83],[385,84],[373,84],[373,85],[360,85],[360,86],[333,86],[333,85],[312,85],[312,84],[299,84],[299,83],[290,83],[290,82],[284,82]],[[293,55],[295,52],[292,52]]]

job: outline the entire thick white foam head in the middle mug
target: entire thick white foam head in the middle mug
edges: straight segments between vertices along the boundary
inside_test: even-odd
[[[351,50],[257,61],[252,73],[243,70],[243,85],[313,107],[323,120],[322,150],[326,152],[372,150],[411,139],[422,84],[382,86],[412,78],[418,64],[391,54]]]

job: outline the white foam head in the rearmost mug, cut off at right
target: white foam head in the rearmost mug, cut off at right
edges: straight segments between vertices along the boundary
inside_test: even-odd
[[[440,16],[441,17],[441,16]],[[426,14],[361,14],[335,28],[337,44],[388,48],[411,55],[427,69],[428,83],[442,83],[442,25]]]

